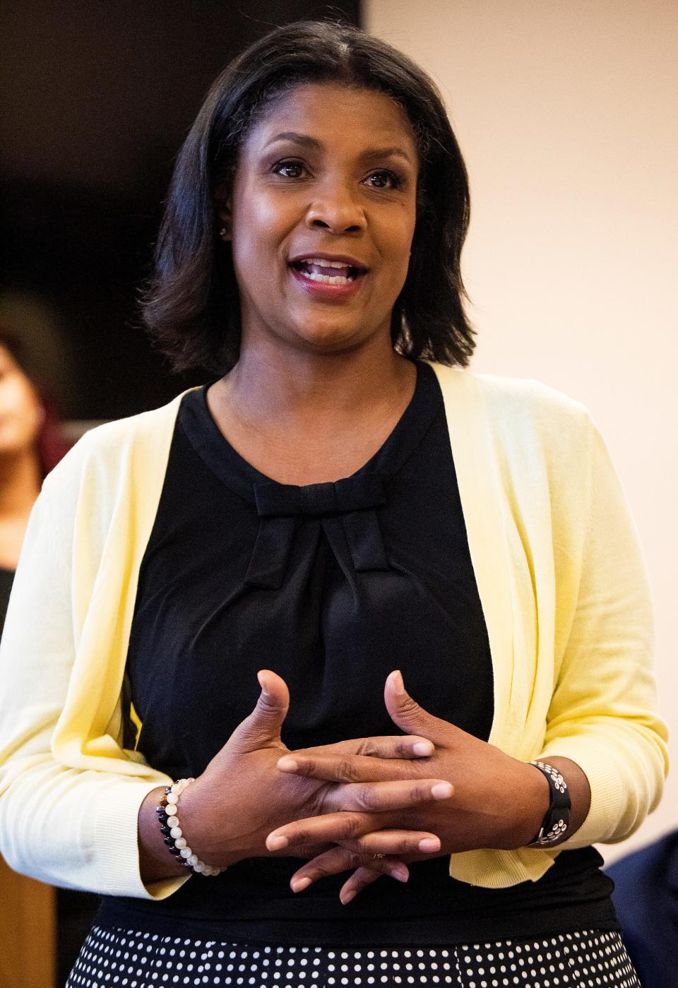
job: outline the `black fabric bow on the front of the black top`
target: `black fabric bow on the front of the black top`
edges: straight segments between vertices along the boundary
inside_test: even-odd
[[[346,477],[334,483],[255,483],[261,519],[245,581],[277,590],[283,584],[297,518],[339,516],[353,564],[359,572],[388,569],[375,508],[386,503],[383,480],[376,473]]]

